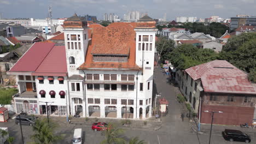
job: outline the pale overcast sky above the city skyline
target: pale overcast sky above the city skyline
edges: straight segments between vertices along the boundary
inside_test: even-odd
[[[123,19],[129,10],[138,10],[154,19],[167,14],[167,20],[176,16],[229,18],[237,14],[256,16],[256,0],[0,0],[0,13],[5,18],[33,17],[43,19],[48,7],[53,7],[53,18],[78,15],[114,13]]]

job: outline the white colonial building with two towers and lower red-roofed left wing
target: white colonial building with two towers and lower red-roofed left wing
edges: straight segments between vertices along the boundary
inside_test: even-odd
[[[155,21],[63,23],[65,46],[36,43],[9,70],[17,75],[16,112],[146,119],[152,113]]]

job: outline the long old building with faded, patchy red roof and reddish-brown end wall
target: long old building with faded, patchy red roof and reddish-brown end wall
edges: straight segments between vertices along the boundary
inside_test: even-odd
[[[214,124],[252,125],[256,118],[256,86],[229,62],[216,60],[179,70],[176,81],[201,123],[211,123],[205,111],[223,111],[214,115]]]

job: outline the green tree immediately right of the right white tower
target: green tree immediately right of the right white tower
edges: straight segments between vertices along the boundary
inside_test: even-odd
[[[155,46],[161,57],[160,61],[164,62],[168,58],[169,53],[174,49],[174,41],[166,37],[159,37]]]

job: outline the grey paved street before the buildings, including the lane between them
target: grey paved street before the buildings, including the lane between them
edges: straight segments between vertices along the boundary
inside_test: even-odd
[[[155,88],[158,93],[161,93],[161,97],[165,97],[169,101],[168,105],[168,115],[162,117],[162,127],[159,130],[148,130],[143,128],[137,129],[125,129],[124,138],[129,139],[130,137],[138,136],[139,139],[147,141],[149,144],[156,143],[208,143],[209,135],[207,133],[207,127],[210,125],[204,125],[206,133],[197,135],[194,130],[191,129],[191,124],[188,122],[187,118],[184,118],[182,122],[181,117],[181,105],[176,100],[175,88],[168,83],[167,76],[162,74],[160,69],[155,69],[154,75]],[[0,127],[8,127],[10,131],[10,136],[15,137],[14,143],[21,143],[20,128],[19,125],[14,123],[13,119],[10,119],[7,123],[0,123]],[[219,143],[241,143],[241,142],[229,142],[225,141],[221,136],[220,130],[222,126],[214,125],[213,127],[219,128],[214,129],[212,135],[212,144]],[[66,134],[65,139],[59,143],[71,143],[73,131],[75,128],[82,128],[84,131],[85,141],[83,143],[98,144],[103,139],[104,136],[101,135],[100,131],[92,131],[90,124],[84,125],[74,125],[60,123],[60,127],[57,128],[57,134]],[[33,134],[32,128],[30,126],[23,126],[23,134],[25,137],[25,142],[31,142],[30,136]],[[219,131],[218,131],[219,130]],[[254,143],[255,136],[253,131],[250,133],[252,136],[252,143]]]

